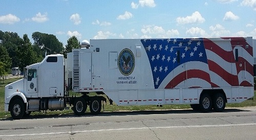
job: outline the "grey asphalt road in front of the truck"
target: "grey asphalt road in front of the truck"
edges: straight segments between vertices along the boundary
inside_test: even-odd
[[[103,112],[0,120],[0,139],[256,139],[256,107]]]

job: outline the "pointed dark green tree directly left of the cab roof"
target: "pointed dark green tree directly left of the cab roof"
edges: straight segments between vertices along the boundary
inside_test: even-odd
[[[18,47],[18,58],[20,59],[18,67],[21,71],[28,65],[40,62],[27,34],[23,35],[23,43]]]

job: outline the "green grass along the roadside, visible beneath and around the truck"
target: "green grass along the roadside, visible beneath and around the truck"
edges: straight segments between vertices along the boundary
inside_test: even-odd
[[[8,83],[11,83],[13,81],[18,80],[19,78],[14,79],[7,79],[4,81],[4,84],[0,87],[0,118],[10,118],[11,115],[9,112],[4,111],[4,104],[5,104],[5,86]],[[79,96],[79,94],[71,93],[71,96]],[[92,93],[91,95],[96,95],[95,93]],[[104,95],[105,96],[105,95]],[[253,99],[246,100],[242,103],[232,103],[227,104],[226,107],[245,107],[245,106],[256,106],[256,92],[254,92]],[[102,104],[103,107],[103,104]],[[158,107],[156,105],[136,105],[136,106],[117,106],[115,103],[114,105],[110,105],[109,101],[104,102],[104,111],[120,111],[120,110],[156,110],[156,109],[186,109],[190,108],[190,105],[163,105],[162,107]],[[102,109],[103,110],[103,109]],[[89,107],[87,107],[87,112],[90,112]],[[73,110],[63,110],[63,111],[47,111],[47,113],[41,112],[34,112],[31,115],[44,115],[44,116],[57,116],[57,115],[65,115],[65,114],[73,114]]]

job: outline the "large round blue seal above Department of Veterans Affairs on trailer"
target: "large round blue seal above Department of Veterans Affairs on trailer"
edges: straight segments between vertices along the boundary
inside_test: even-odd
[[[130,75],[135,66],[133,52],[130,49],[123,49],[118,56],[118,67],[124,76]]]

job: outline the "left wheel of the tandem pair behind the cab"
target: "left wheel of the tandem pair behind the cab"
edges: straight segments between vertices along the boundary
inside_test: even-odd
[[[77,116],[84,115],[87,109],[87,104],[82,97],[76,98],[73,105],[74,105],[74,113]]]

